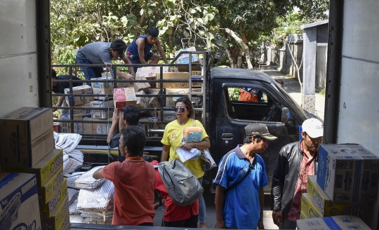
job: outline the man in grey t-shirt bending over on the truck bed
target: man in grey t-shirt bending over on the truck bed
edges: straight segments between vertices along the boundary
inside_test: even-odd
[[[112,43],[95,41],[88,43],[78,50],[77,62],[80,65],[88,64],[109,64],[112,65],[112,58],[121,58],[126,64],[131,64],[128,57],[124,54],[126,43],[121,39],[116,39]],[[84,73],[86,80],[101,77],[104,72],[102,67],[80,67]],[[109,69],[110,70],[110,69]],[[135,75],[132,67],[129,67],[129,72]],[[117,76],[125,80],[134,80],[133,76],[128,76],[117,69]],[[87,83],[91,86],[91,83]]]

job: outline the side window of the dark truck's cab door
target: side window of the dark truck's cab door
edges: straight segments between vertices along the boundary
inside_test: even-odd
[[[231,119],[262,121],[274,101],[262,88],[224,88],[227,113]],[[275,119],[276,120],[276,119]]]

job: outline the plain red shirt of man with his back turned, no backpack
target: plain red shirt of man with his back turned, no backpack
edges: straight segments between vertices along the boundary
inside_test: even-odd
[[[128,157],[123,163],[112,162],[102,176],[114,184],[112,224],[152,223],[154,211],[154,166],[142,157]]]

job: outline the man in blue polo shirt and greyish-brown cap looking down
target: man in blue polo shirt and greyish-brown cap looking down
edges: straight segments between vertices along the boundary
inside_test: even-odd
[[[246,126],[245,131],[244,145],[238,145],[222,157],[213,181],[217,185],[215,229],[265,228],[263,187],[268,182],[265,162],[258,154],[267,149],[267,140],[277,137],[260,123]]]

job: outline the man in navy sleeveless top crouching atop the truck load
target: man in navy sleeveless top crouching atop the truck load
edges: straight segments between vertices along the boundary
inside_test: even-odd
[[[159,30],[157,27],[147,29],[147,34],[136,37],[128,47],[127,56],[133,64],[157,64],[161,55],[164,63],[168,64],[166,53],[162,49],[161,42],[158,39]],[[157,46],[159,55],[150,52],[152,46]],[[137,72],[138,67],[134,67],[134,72]]]

